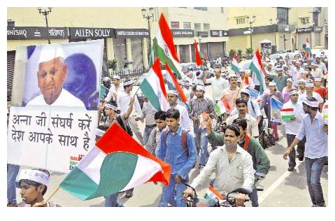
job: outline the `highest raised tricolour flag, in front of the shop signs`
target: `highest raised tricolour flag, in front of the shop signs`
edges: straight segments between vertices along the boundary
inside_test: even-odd
[[[180,79],[184,79],[185,75],[181,71],[177,50],[173,43],[173,36],[163,14],[159,17],[159,26],[157,28],[157,36],[154,39],[156,43],[156,53],[161,62],[167,62],[174,73],[177,73]]]

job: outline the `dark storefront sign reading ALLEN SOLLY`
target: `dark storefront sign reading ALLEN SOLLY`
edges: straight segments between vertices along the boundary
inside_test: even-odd
[[[71,27],[70,30],[70,38],[114,38],[114,30],[113,29],[97,29],[97,28],[80,28],[80,27]]]

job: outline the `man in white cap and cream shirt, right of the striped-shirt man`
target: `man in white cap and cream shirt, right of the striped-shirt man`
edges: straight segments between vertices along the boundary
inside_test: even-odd
[[[226,117],[228,117],[231,113],[231,110],[233,110],[236,107],[235,104],[236,99],[238,99],[238,97],[241,97],[241,89],[240,87],[237,87],[236,74],[230,73],[228,76],[228,81],[230,86],[223,90],[220,98],[220,99],[222,98],[226,99],[229,104],[229,110],[226,110]]]

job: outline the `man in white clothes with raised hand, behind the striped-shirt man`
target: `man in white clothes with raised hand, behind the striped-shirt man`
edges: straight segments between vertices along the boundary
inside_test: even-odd
[[[221,97],[222,91],[229,87],[228,80],[221,77],[220,69],[214,69],[215,76],[207,79],[208,71],[204,74],[204,78],[202,81],[204,84],[212,85],[212,98],[214,103],[216,104]]]

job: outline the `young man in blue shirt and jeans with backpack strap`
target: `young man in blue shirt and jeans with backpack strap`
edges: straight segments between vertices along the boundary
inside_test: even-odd
[[[187,131],[186,137],[183,138],[185,128],[180,127],[179,120],[179,110],[170,108],[166,111],[168,128],[162,131],[157,157],[171,164],[171,177],[169,185],[163,187],[159,206],[168,206],[168,204],[177,207],[186,206],[185,201],[182,201],[186,185],[180,183],[180,180],[189,180],[188,173],[197,161],[194,138],[190,131]]]

